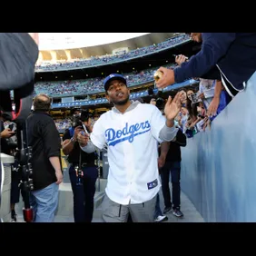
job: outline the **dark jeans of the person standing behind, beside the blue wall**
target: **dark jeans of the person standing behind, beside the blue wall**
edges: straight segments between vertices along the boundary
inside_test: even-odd
[[[169,188],[170,172],[172,177],[172,200]],[[162,195],[165,207],[180,210],[181,204],[181,162],[165,162],[161,169]]]

